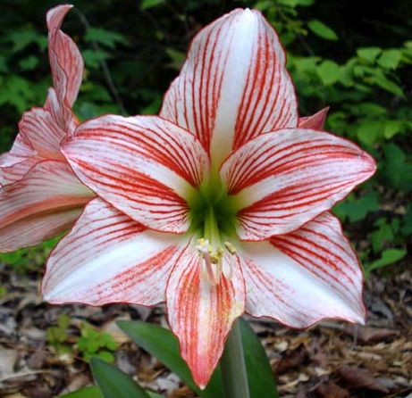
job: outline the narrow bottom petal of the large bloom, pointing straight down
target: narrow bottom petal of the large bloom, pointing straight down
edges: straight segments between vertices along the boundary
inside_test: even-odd
[[[217,286],[201,277],[199,261],[189,244],[172,269],[166,303],[169,324],[181,344],[181,357],[202,388],[222,356],[233,320],[243,313],[245,286],[238,259],[232,263],[232,278],[222,277]]]

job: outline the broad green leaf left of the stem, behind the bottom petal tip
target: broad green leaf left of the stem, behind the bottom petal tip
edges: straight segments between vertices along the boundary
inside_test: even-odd
[[[200,390],[191,377],[188,365],[181,359],[178,340],[170,330],[139,320],[119,320],[117,325],[131,340],[181,377],[181,380],[200,397],[224,397],[221,369],[215,369],[206,389]]]

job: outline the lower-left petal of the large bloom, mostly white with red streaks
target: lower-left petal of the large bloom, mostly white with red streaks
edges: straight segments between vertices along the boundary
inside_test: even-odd
[[[88,203],[47,261],[49,303],[163,302],[180,251],[176,236],[144,228],[99,198]]]

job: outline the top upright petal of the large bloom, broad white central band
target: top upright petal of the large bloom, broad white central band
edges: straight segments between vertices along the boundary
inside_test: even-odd
[[[160,114],[195,133],[217,166],[263,132],[297,127],[284,50],[262,14],[237,9],[202,29]]]

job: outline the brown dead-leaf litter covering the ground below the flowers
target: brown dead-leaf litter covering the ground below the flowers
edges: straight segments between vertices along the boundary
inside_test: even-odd
[[[0,278],[6,290],[0,298],[1,397],[49,398],[90,385],[88,363],[76,348],[84,322],[114,337],[116,365],[142,386],[170,398],[196,396],[115,326],[118,319],[166,326],[163,308],[52,306],[41,302],[39,273],[19,275],[0,265]],[[270,320],[252,321],[281,397],[412,397],[412,272],[407,261],[389,275],[377,272],[367,280],[366,304],[366,327],[325,321],[296,331]],[[47,342],[46,331],[63,314],[70,326],[60,337],[61,349]]]

